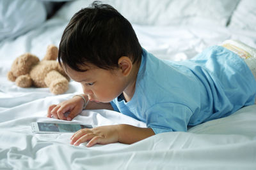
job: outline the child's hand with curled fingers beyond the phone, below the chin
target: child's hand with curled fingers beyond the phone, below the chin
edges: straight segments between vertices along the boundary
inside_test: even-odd
[[[61,120],[72,120],[72,118],[76,117],[83,110],[84,101],[82,97],[75,96],[72,99],[68,99],[67,101],[63,101],[59,104],[52,104],[48,108],[47,117],[58,118]],[[68,117],[65,117],[66,112],[70,112]]]

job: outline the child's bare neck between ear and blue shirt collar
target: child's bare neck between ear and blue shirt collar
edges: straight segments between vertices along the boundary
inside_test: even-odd
[[[140,70],[140,63],[141,62],[136,62],[136,64],[133,65],[131,74],[128,78],[129,83],[127,84],[127,87],[123,92],[126,102],[131,101],[132,96],[134,95],[134,92],[136,89],[136,80],[137,80],[138,72]]]

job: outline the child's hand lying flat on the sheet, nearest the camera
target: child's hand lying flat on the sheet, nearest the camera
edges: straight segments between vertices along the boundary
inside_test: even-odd
[[[71,145],[79,145],[89,141],[87,147],[93,146],[96,143],[108,144],[118,142],[117,125],[106,125],[95,127],[92,129],[81,129],[71,137]]]

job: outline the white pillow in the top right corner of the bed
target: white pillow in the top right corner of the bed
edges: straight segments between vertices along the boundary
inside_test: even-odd
[[[241,0],[234,11],[229,27],[256,31],[256,1]]]

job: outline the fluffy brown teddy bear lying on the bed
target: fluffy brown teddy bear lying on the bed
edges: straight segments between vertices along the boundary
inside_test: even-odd
[[[53,94],[63,94],[68,90],[70,79],[56,61],[57,57],[58,48],[54,45],[47,47],[42,61],[31,53],[24,53],[14,60],[8,79],[19,87],[49,87]]]

